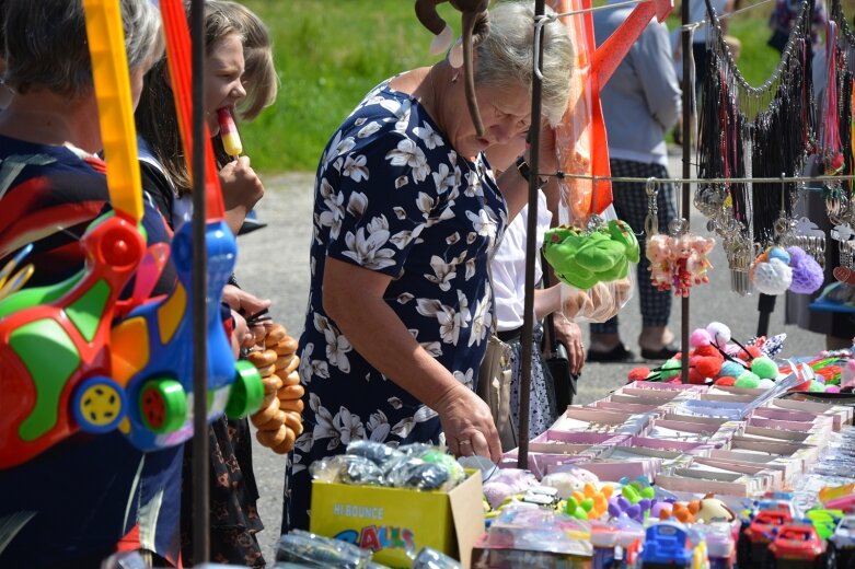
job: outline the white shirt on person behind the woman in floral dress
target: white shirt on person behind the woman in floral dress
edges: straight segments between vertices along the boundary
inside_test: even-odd
[[[552,212],[546,207],[546,196],[538,190],[538,256],[534,260],[534,281],[543,276],[540,249],[543,234],[550,229]],[[508,225],[505,236],[493,257],[493,290],[496,299],[498,329],[512,330],[522,326],[525,302],[525,230],[529,223],[529,206],[524,206]]]

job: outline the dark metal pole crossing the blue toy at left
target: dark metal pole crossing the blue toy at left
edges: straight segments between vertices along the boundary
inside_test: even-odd
[[[193,49],[193,562],[210,551],[208,503],[208,267],[205,246],[205,0],[190,3]]]

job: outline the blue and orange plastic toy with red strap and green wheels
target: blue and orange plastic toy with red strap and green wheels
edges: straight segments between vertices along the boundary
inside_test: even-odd
[[[185,155],[192,156],[189,106],[189,32],[181,0],[161,1],[166,35],[167,61],[175,90],[176,107]],[[206,136],[205,249],[208,259],[206,294],[208,419],[245,417],[255,411],[264,386],[258,370],[247,361],[234,361],[220,317],[222,289],[234,268],[238,247],[223,222],[222,195],[213,151]],[[181,443],[193,436],[193,322],[192,272],[193,224],[175,233],[172,258],[180,284],[165,299],[149,302],[127,314],[113,329],[114,373],[127,384],[135,402],[123,426],[131,443],[140,450],[155,450]],[[143,349],[140,349],[140,348]]]

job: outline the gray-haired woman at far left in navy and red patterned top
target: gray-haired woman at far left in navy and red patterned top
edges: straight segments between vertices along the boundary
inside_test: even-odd
[[[163,50],[160,14],[148,0],[120,0],[119,8],[136,104]],[[83,268],[80,237],[109,210],[83,7],[7,0],[3,11],[3,80],[14,95],[0,113],[0,160],[18,166],[0,189],[0,265],[33,243],[27,286],[54,284]],[[169,242],[149,204],[142,227],[149,244]],[[153,295],[174,283],[167,265]],[[78,432],[0,471],[0,519],[23,515],[0,566],[92,568],[117,549],[147,549],[159,565],[177,564],[181,455],[181,445],[140,452],[119,431]]]

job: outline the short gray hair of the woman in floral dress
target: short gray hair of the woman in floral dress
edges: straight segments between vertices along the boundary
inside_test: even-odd
[[[554,14],[546,8],[546,14]],[[574,50],[558,20],[543,25],[543,117],[555,126],[567,108]],[[494,88],[524,85],[531,92],[534,54],[534,2],[508,0],[489,10],[489,34],[477,47],[475,83]]]

